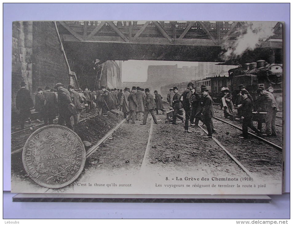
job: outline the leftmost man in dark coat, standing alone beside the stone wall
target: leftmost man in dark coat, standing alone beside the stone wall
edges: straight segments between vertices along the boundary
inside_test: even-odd
[[[20,127],[24,129],[26,119],[29,119],[30,122],[30,109],[34,107],[34,103],[30,91],[26,89],[26,83],[22,81],[20,86],[21,88],[16,95],[16,108],[19,110]]]

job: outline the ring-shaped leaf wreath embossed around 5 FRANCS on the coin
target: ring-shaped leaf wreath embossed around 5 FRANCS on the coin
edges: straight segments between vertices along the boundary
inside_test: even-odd
[[[68,158],[65,159],[65,164],[58,166],[58,169],[53,167],[45,168],[44,162],[41,162],[41,150],[45,148],[44,143],[59,143],[64,147],[64,152],[68,153]],[[43,178],[47,178],[46,182],[65,182],[69,171],[73,170],[75,164],[76,150],[71,141],[65,136],[61,137],[58,133],[48,132],[42,137],[40,141],[36,143],[34,150],[32,150],[32,163],[36,166],[36,171],[42,175]]]

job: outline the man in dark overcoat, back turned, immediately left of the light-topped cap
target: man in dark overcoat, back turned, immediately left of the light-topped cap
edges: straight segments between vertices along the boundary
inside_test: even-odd
[[[53,120],[56,118],[58,112],[58,102],[54,92],[50,91],[50,88],[46,86],[45,92],[43,93],[46,103],[44,107],[44,124],[52,125]],[[49,121],[49,123],[48,123]]]

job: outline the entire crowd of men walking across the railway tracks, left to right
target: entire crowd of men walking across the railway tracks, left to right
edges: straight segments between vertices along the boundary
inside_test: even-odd
[[[205,85],[200,87],[201,94],[196,92],[193,83],[189,83],[182,94],[178,92],[177,87],[173,87],[169,91],[167,101],[170,105],[170,112],[172,112],[172,121],[170,121],[172,125],[176,125],[176,119],[178,118],[184,123],[184,132],[192,133],[189,126],[198,126],[199,121],[202,121],[208,131],[208,135],[204,136],[205,138],[210,138],[213,133],[217,132],[212,121],[212,117],[214,117],[213,100]],[[234,120],[235,109],[232,95],[228,88],[223,87],[221,91],[223,94],[221,108],[224,107],[224,117]],[[275,119],[279,108],[275,97],[271,91],[266,91],[264,88],[258,88],[257,92],[259,93],[257,99],[257,106],[259,107],[255,107],[255,113],[263,112],[264,108],[266,111],[266,133],[263,135],[276,136]],[[70,118],[73,117],[74,127],[76,127],[83,109],[85,109],[85,112],[97,109],[98,114],[105,117],[108,116],[108,113],[113,113],[118,117],[119,112],[115,110],[120,110],[127,122],[131,120],[135,124],[136,121],[143,121],[141,125],[146,124],[148,113],[150,113],[154,123],[157,124],[161,120],[156,119],[155,112],[159,114],[160,110],[164,114],[166,111],[162,104],[163,97],[156,90],[154,95],[150,93],[149,88],[132,87],[122,90],[107,89],[105,86],[101,86],[98,91],[89,91],[88,87],[85,87],[85,90],[74,89],[73,86],[66,89],[63,84],[57,83],[54,89],[46,86],[43,91],[42,88],[38,88],[34,107],[30,92],[26,89],[26,83],[22,82],[21,89],[16,96],[16,107],[19,110],[19,121],[22,129],[26,120],[30,122],[30,110],[33,107],[36,112],[39,112],[37,121],[43,120],[44,125],[51,125],[56,116],[59,115],[58,124],[66,125],[70,129],[74,129]],[[253,99],[242,84],[239,86],[236,101],[238,106],[238,118],[236,119],[243,118],[243,133],[240,138],[248,137],[248,127],[255,133],[261,134],[262,121],[259,121],[258,128],[254,127],[252,123]],[[185,118],[182,108],[185,111]],[[168,117],[169,115],[167,115]]]

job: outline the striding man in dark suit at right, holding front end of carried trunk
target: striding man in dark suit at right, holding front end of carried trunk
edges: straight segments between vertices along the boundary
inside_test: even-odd
[[[248,127],[251,128],[255,133],[260,134],[260,130],[256,129],[252,123],[252,103],[248,98],[248,91],[241,91],[241,96],[243,98],[242,104],[239,106],[244,117],[242,122],[242,136],[240,138],[248,138]]]

